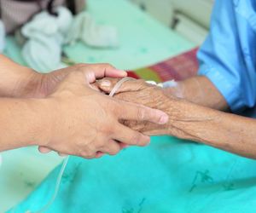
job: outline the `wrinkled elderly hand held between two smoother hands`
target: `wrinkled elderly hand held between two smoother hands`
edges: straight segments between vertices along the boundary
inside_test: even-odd
[[[96,86],[108,94],[118,81],[119,79],[103,78],[96,82]],[[119,100],[157,108],[164,112],[169,112],[172,109],[171,101],[175,99],[175,97],[171,98],[171,95],[167,96],[164,89],[146,83],[144,80],[136,80],[133,78],[131,78],[131,81],[123,83],[114,97]],[[147,121],[128,120],[125,120],[124,124],[146,135],[169,134],[169,127],[167,125],[152,124]]]

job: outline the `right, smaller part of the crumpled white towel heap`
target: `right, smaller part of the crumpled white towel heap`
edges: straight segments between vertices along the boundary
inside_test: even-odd
[[[117,28],[96,25],[96,21],[85,11],[74,17],[65,43],[72,44],[77,40],[96,48],[116,48],[119,45]]]

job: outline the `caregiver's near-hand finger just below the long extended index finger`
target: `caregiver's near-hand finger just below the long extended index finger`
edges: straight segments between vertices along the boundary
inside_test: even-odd
[[[116,134],[113,135],[114,139],[117,141],[121,141],[125,145],[136,145],[140,147],[144,147],[148,145],[150,142],[150,137],[147,135],[143,135],[142,133],[131,130],[125,125],[119,124],[118,128],[115,130]],[[124,145],[119,145],[121,148]]]

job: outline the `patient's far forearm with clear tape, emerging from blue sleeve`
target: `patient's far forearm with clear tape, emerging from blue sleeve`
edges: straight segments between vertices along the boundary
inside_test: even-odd
[[[177,86],[166,88],[166,95],[175,95],[195,104],[228,110],[228,104],[213,83],[206,77],[196,76],[177,83]]]

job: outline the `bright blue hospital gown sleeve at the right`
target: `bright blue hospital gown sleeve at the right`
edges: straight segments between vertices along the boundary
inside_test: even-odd
[[[199,74],[209,78],[232,112],[256,117],[256,1],[218,0],[211,31],[198,53]]]

